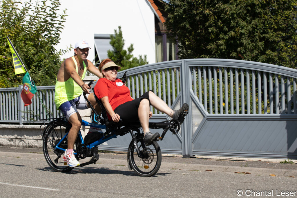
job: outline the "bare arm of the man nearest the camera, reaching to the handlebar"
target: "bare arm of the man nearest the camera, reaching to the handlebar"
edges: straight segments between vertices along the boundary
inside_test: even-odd
[[[84,92],[86,92],[87,94],[90,93],[89,92],[90,87],[87,84],[85,84],[83,80],[81,80],[80,76],[75,70],[75,64],[71,59],[66,59],[64,61],[64,71],[66,71],[70,75],[70,77],[75,81],[75,83],[82,86],[82,89]]]

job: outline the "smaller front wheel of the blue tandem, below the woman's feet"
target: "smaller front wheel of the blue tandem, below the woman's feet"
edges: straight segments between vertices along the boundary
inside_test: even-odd
[[[143,134],[137,136],[137,145],[140,151],[146,153],[147,158],[140,158],[137,155],[134,140],[131,141],[128,148],[128,160],[132,169],[140,176],[151,177],[156,174],[161,166],[162,153],[157,142],[142,148]]]

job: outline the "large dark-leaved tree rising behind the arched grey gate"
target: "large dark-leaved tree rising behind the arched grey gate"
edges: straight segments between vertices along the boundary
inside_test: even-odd
[[[297,66],[296,0],[170,0],[165,11],[180,58]]]

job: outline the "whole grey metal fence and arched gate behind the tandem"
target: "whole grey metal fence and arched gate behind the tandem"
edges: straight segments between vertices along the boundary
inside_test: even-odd
[[[126,71],[133,98],[152,90],[174,110],[184,102],[190,106],[179,134],[166,135],[162,142],[165,153],[297,159],[296,69],[252,61],[186,59]],[[49,117],[61,115],[53,102],[54,86],[37,87],[40,98],[35,95],[28,107],[20,100],[21,89],[0,89],[0,122],[40,123],[46,117],[42,104]],[[151,111],[153,119],[168,118],[153,107]],[[130,137],[120,138],[100,146],[122,151]]]

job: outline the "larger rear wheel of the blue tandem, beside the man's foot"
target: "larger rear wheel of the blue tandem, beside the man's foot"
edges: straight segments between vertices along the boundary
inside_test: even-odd
[[[48,165],[57,172],[69,172],[74,167],[69,167],[64,164],[63,155],[64,151],[60,149],[55,149],[54,146],[57,144],[62,137],[69,131],[70,125],[67,121],[58,120],[54,121],[52,124],[48,124],[43,132],[43,154]],[[47,132],[48,131],[48,132]],[[75,142],[74,149],[77,147],[77,141]],[[67,137],[59,145],[60,148],[67,148]],[[60,155],[60,158],[58,158]],[[54,161],[56,159],[57,163]]]

